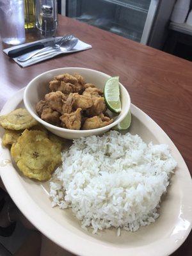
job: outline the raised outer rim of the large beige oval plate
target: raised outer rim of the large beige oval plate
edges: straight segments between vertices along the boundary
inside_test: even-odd
[[[23,99],[23,94],[24,94],[24,89],[22,88],[21,90],[19,90],[18,92],[16,92],[3,106],[3,108],[1,109],[1,115],[2,113],[4,113],[6,111],[6,108],[10,108],[10,106],[13,106],[13,109],[15,108],[15,106],[17,106],[17,104],[19,104],[19,102],[22,101]],[[192,193],[192,180],[191,175],[189,173],[188,170],[188,166],[186,165],[183,157],[181,156],[179,150],[177,149],[177,147],[174,145],[173,141],[168,137],[168,135],[166,134],[166,132],[163,131],[163,129],[161,129],[161,127],[159,127],[159,125],[152,120],[152,118],[150,118],[150,116],[148,116],[146,113],[144,113],[141,109],[139,109],[138,107],[134,106],[133,104],[131,104],[131,111],[133,114],[135,113],[141,113],[140,116],[140,121],[143,122],[143,124],[146,125],[146,120],[147,120],[147,125],[148,124],[152,124],[156,129],[158,129],[159,131],[161,131],[161,136],[164,138],[164,140],[166,140],[168,142],[168,144],[171,144],[172,147],[175,147],[175,150],[179,156],[179,160],[181,161],[182,166],[184,167],[184,170],[186,172],[186,175],[188,175],[189,179],[188,180],[188,186],[189,189],[191,189],[191,193]],[[138,117],[138,116],[137,116]],[[156,129],[154,129],[154,132],[156,132]],[[151,129],[150,129],[151,131]],[[0,163],[2,163],[2,161],[6,158],[4,157],[9,157],[9,150],[8,148],[0,148]],[[169,239],[170,237],[168,237],[167,239],[157,239],[157,241],[154,241],[152,244],[147,244],[144,246],[137,246],[137,247],[133,247],[133,248],[120,248],[118,246],[113,246],[111,248],[111,246],[107,246],[107,243],[102,243],[100,242],[100,244],[97,243],[97,241],[88,241],[87,239],[83,238],[83,237],[79,237],[79,235],[74,234],[74,232],[71,232],[70,230],[65,229],[65,227],[61,227],[61,225],[59,223],[56,222],[56,220],[54,220],[53,218],[51,218],[51,216],[49,216],[48,214],[46,214],[36,203],[35,201],[29,196],[28,192],[24,189],[23,186],[20,186],[20,189],[24,192],[24,194],[22,194],[20,191],[19,195],[17,195],[17,193],[14,193],[14,189],[13,188],[17,188],[17,185],[19,185],[20,181],[19,178],[17,177],[17,175],[12,172],[12,170],[15,170],[15,168],[13,167],[12,163],[8,163],[6,164],[6,166],[1,166],[0,167],[0,175],[1,175],[1,179],[3,180],[4,186],[7,189],[9,195],[12,197],[13,201],[15,202],[15,204],[17,205],[17,207],[20,209],[20,211],[24,214],[24,216],[26,216],[26,218],[28,218],[29,221],[31,221],[31,223],[33,223],[33,225],[35,225],[35,227],[40,230],[40,232],[42,232],[42,234],[44,234],[45,236],[47,236],[49,239],[51,239],[54,243],[58,244],[61,248],[64,248],[65,250],[68,250],[69,252],[72,253],[76,253],[79,256],[90,256],[90,254],[92,254],[93,256],[96,255],[106,255],[106,253],[110,253],[111,256],[115,256],[116,253],[121,253],[122,256],[127,255],[127,253],[134,253],[135,256],[139,256],[141,255],[170,255],[171,253],[175,252],[175,250],[177,250],[177,248],[180,247],[180,245],[182,243],[184,243],[184,241],[186,240],[186,238],[189,235],[189,232],[191,231],[191,227],[192,227],[192,214],[191,214],[191,218],[189,220],[189,227],[185,230],[184,232],[184,236],[182,236],[181,239],[179,239],[179,241],[177,243],[173,243],[172,246],[170,246],[170,244],[173,242],[171,239]],[[13,178],[14,181],[17,182],[10,182],[10,177],[9,175],[15,176]],[[18,183],[19,181],[19,183]],[[189,193],[190,191],[188,191]],[[190,194],[190,193],[189,193]],[[20,197],[22,196],[22,197]],[[22,198],[22,200],[21,200]],[[22,203],[21,203],[22,202]],[[36,213],[35,218],[33,218],[33,214],[31,214],[31,207],[30,209],[28,209],[28,207],[26,207],[26,204],[32,204],[33,209]],[[189,205],[189,211],[192,211],[192,202],[191,205]],[[43,218],[44,217],[44,218]],[[46,217],[46,218],[45,218]],[[47,227],[47,221],[49,223],[49,221],[52,221],[52,225],[54,225],[55,228],[50,228]],[[66,231],[65,234],[63,234],[63,228]],[[56,231],[57,230],[57,231]],[[61,230],[61,232],[60,232]],[[62,233],[62,235],[61,235]],[[64,241],[64,243],[63,243]],[[79,243],[83,241],[84,244],[86,244],[86,248],[82,247],[82,244]],[[74,246],[74,244],[76,244],[76,246]],[[167,246],[166,246],[167,244]],[[97,250],[96,251],[92,251],[92,248],[94,248],[95,246],[97,246]],[[91,248],[91,249],[88,249]],[[139,249],[138,249],[139,248]],[[143,252],[143,249],[147,249],[146,253]],[[163,248],[163,252],[162,252],[162,248]],[[161,249],[161,254],[158,253],[157,250]],[[163,254],[162,254],[163,253]],[[107,254],[108,255],[108,254]]]

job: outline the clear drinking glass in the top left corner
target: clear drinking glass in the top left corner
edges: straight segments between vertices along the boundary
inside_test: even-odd
[[[25,42],[23,0],[0,0],[0,35],[6,44]]]

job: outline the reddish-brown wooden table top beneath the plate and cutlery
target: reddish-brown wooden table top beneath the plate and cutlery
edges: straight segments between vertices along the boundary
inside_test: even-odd
[[[58,35],[73,33],[93,49],[27,68],[19,67],[1,51],[0,108],[33,77],[53,68],[86,67],[118,75],[132,103],[170,136],[192,174],[192,63],[67,17],[59,21]],[[27,39],[34,40],[33,34]],[[180,255],[192,255],[192,234],[172,256]]]

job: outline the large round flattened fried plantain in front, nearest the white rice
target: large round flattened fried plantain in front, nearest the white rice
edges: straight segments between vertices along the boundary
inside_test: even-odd
[[[22,132],[12,145],[11,154],[19,170],[29,178],[48,180],[51,173],[61,163],[61,148],[45,132]]]

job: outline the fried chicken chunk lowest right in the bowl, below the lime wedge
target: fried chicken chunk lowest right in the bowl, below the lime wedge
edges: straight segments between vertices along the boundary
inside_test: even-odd
[[[111,123],[113,123],[113,119],[110,119],[108,116],[100,114],[99,116],[87,118],[82,128],[84,130],[97,129],[109,125]]]

